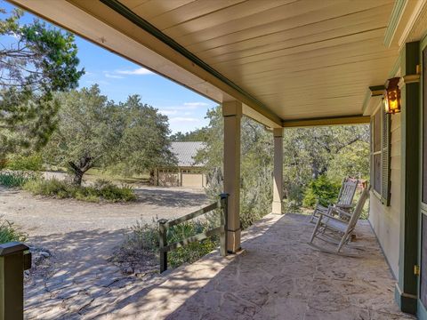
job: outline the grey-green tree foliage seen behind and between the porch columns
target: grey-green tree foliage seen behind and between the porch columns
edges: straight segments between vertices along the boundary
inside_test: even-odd
[[[205,164],[210,196],[222,192],[223,121],[221,107],[207,112],[206,148],[197,154]],[[242,118],[241,220],[247,227],[270,212],[272,197],[273,136],[262,124]],[[284,196],[301,204],[310,181],[327,175],[333,183],[345,176],[367,178],[367,125],[286,129],[283,137]],[[324,178],[326,179],[326,178]],[[334,189],[334,191],[336,191]]]

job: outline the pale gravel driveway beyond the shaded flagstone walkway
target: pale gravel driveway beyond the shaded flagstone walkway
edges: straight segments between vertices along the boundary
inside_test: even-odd
[[[138,200],[129,204],[92,204],[49,199],[0,187],[0,215],[29,236],[65,234],[77,230],[119,230],[136,220],[170,219],[196,210],[206,202],[201,189],[136,188]]]

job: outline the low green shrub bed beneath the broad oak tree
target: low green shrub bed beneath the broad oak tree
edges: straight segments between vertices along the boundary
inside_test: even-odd
[[[117,187],[109,181],[95,182],[93,186],[76,186],[66,180],[37,179],[30,180],[23,188],[33,195],[52,196],[56,198],[76,198],[86,202],[129,202],[136,200],[133,188]]]

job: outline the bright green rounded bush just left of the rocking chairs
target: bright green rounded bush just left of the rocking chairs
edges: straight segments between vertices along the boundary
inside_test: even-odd
[[[328,180],[325,175],[321,175],[318,179],[310,181],[309,187],[305,190],[302,205],[312,208],[317,202],[322,205],[334,203],[339,192],[339,184]]]

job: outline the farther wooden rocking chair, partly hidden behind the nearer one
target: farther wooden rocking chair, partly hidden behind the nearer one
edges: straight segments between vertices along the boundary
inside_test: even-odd
[[[328,212],[329,207],[331,206],[349,212],[350,209],[353,207],[353,197],[356,194],[356,188],[358,188],[358,183],[359,180],[350,180],[349,178],[345,178],[344,180],[342,180],[342,185],[340,188],[340,193],[338,194],[338,201],[336,202],[336,204],[329,204],[328,207],[323,206],[321,204],[316,204],[314,212],[311,215],[310,222],[315,223],[318,220],[319,213]]]

